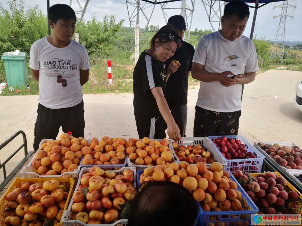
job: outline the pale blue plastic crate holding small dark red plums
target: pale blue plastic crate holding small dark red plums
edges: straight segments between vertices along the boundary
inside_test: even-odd
[[[225,136],[228,140],[229,139],[235,139],[235,140],[239,139],[239,140],[241,140],[241,144],[244,144],[247,152],[252,152],[253,155],[256,156],[256,158],[253,158],[253,159],[231,159],[231,160],[226,159],[222,155],[220,150],[215,146],[214,142],[212,141],[212,139],[215,140],[215,139],[221,138],[221,137],[224,137],[224,136],[210,136],[209,139],[213,143],[214,147],[217,149],[219,154],[222,156],[222,158],[226,161],[226,170],[228,170],[232,173],[235,172],[236,170],[241,170],[243,173],[245,173],[245,172],[247,172],[247,173],[261,173],[264,156],[257,149],[255,149],[244,137],[238,136],[238,135]]]

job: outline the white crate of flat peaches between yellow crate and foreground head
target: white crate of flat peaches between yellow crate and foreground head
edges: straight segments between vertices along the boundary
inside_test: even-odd
[[[85,173],[89,173],[89,170],[92,167],[89,168],[82,168],[79,174],[79,178],[82,177],[83,174]],[[133,171],[133,187],[136,188],[136,168],[134,166],[125,166],[119,170],[111,170],[112,172],[116,172],[117,175],[122,174],[125,170],[132,170]],[[75,188],[75,192],[78,190],[79,186],[81,184],[81,180],[78,180],[78,183],[76,185]],[[89,224],[85,224],[82,221],[78,221],[78,220],[71,220],[72,215],[74,214],[73,211],[71,210],[71,206],[73,204],[73,199],[70,199],[70,203],[68,208],[66,209],[66,211],[63,213],[62,218],[61,218],[61,222],[63,223],[64,226],[89,226]],[[128,220],[127,219],[120,219],[117,222],[115,222],[114,224],[96,224],[99,226],[126,226],[127,225]]]

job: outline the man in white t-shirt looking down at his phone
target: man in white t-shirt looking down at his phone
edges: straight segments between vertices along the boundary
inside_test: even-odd
[[[233,0],[224,8],[222,30],[198,42],[192,64],[192,77],[201,81],[194,137],[238,133],[242,85],[259,70],[254,43],[242,35],[248,19],[248,5]]]

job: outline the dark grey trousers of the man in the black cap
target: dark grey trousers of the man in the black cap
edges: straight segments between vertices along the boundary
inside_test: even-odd
[[[182,137],[186,136],[186,127],[187,127],[187,119],[188,119],[188,106],[169,106],[171,110],[171,114],[175,120],[175,123],[178,125],[180,130],[180,135]]]

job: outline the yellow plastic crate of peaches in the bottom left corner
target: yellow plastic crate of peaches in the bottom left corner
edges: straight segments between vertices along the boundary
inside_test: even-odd
[[[18,187],[21,187],[21,184],[26,181],[31,181],[34,184],[35,183],[43,184],[43,182],[45,182],[47,180],[57,180],[57,181],[59,181],[60,185],[64,185],[66,187],[66,191],[68,191],[68,197],[67,197],[66,204],[65,204],[65,207],[63,210],[63,213],[64,213],[65,210],[67,209],[69,200],[72,196],[73,186],[75,183],[75,179],[73,177],[70,177],[70,178],[19,178],[19,177],[17,177],[14,179],[14,181],[11,183],[11,185],[8,187],[8,189],[5,191],[4,195],[0,199],[0,222],[3,220],[2,213],[5,211],[5,209],[8,209],[7,208],[8,201],[5,199],[5,196],[8,193],[10,193],[11,191],[13,191],[14,189],[16,189]],[[62,216],[63,216],[63,214],[62,214]],[[60,221],[59,225],[63,225],[61,221]]]

